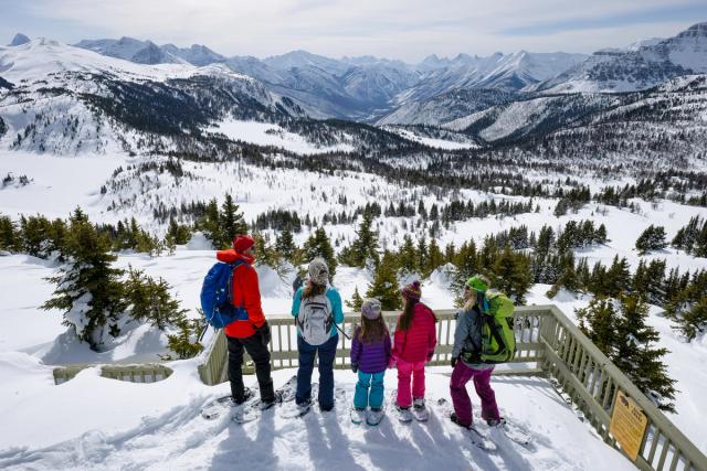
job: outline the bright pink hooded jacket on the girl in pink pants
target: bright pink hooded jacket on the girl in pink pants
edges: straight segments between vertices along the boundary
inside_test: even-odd
[[[393,358],[403,362],[424,362],[437,344],[434,313],[422,302],[414,307],[412,322],[407,331],[395,329],[393,336]],[[398,325],[400,325],[400,317]]]

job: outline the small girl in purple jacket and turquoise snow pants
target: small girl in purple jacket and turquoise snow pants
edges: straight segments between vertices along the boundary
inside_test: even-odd
[[[361,324],[351,339],[351,371],[358,373],[354,407],[380,411],[383,407],[383,376],[391,366],[390,332],[381,315],[380,301],[369,299],[361,307]],[[370,390],[369,390],[370,389]]]

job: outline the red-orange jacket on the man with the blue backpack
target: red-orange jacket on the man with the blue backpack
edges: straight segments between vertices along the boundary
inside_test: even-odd
[[[245,261],[245,264],[235,267],[233,271],[233,306],[243,306],[247,311],[249,320],[231,322],[223,331],[226,335],[236,339],[251,336],[255,333],[253,325],[260,328],[265,323],[265,314],[263,314],[263,308],[261,307],[257,272],[253,268],[255,258],[240,254],[232,248],[217,251],[217,258],[226,264],[232,264],[236,260]]]

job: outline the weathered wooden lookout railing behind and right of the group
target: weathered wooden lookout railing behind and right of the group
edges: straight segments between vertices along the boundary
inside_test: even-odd
[[[454,343],[454,311],[436,311],[437,347],[431,365],[447,365]],[[384,312],[390,330],[397,313]],[[357,314],[346,314],[341,325],[350,335]],[[297,333],[289,315],[268,317],[272,329],[271,364],[275,370],[297,366]],[[633,398],[648,419],[639,457],[631,460],[641,470],[707,471],[707,458],[643,395],[599,349],[555,306],[518,307],[515,313],[518,353],[502,365],[495,375],[548,376],[584,414],[603,440],[621,450],[609,431],[614,400],[619,390]],[[335,367],[349,367],[350,341],[339,334]],[[228,381],[228,347],[223,333],[213,336],[199,366],[203,383],[215,385]],[[245,368],[252,370],[250,358]],[[631,459],[631,458],[629,458]]]

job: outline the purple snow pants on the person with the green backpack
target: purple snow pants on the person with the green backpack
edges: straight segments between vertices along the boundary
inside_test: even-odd
[[[466,383],[474,379],[474,388],[482,399],[482,418],[484,420],[496,419],[498,415],[498,406],[496,405],[496,394],[490,387],[490,374],[494,368],[474,370],[469,368],[461,360],[456,362],[456,366],[452,372],[452,381],[450,382],[450,393],[452,394],[452,403],[456,413],[457,424],[468,427],[472,425],[472,399],[466,392]]]

